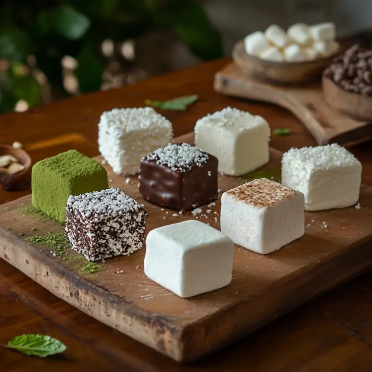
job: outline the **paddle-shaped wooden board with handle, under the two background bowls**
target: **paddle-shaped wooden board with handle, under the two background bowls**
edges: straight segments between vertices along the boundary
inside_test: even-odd
[[[344,146],[372,138],[372,123],[358,121],[330,108],[321,84],[303,87],[263,83],[230,63],[215,76],[215,90],[224,94],[274,103],[292,112],[320,145]]]

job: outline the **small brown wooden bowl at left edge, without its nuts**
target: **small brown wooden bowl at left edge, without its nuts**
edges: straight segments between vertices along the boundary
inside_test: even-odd
[[[8,145],[0,145],[0,156],[1,155],[12,155],[18,160],[19,163],[21,163],[25,167],[25,169],[23,169],[22,171],[14,174],[0,171],[0,183],[3,185],[3,189],[12,191],[29,188],[31,181],[30,155],[21,148],[15,148]]]

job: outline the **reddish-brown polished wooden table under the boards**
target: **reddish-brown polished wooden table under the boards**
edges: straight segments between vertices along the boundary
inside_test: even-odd
[[[167,112],[175,136],[193,129],[197,119],[231,105],[261,115],[271,127],[290,128],[272,146],[315,145],[307,130],[272,105],[228,98],[212,89],[227,59],[150,79],[137,85],[84,95],[0,117],[1,142],[20,141],[33,161],[75,148],[98,153],[99,115],[116,107],[138,107],[145,98],[167,99],[197,93],[187,112]],[[362,181],[372,185],[372,142],[351,149],[363,164]],[[27,192],[0,190],[0,203]],[[372,247],[371,247],[372,248]],[[38,359],[0,348],[0,371],[205,372],[205,371],[368,371],[372,370],[372,273],[280,318],[241,342],[194,363],[181,365],[119,334],[68,305],[0,260],[0,344],[24,333],[48,334],[68,347],[66,358]]]

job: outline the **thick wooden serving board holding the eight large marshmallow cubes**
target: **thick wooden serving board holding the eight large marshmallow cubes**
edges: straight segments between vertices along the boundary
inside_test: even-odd
[[[179,138],[191,143],[193,135]],[[101,157],[96,158],[98,161]],[[281,153],[271,152],[265,172],[280,172]],[[220,201],[201,215],[183,215],[143,201],[137,178],[113,174],[109,184],[145,204],[147,232],[198,217],[219,228]],[[219,177],[224,192],[244,180]],[[190,361],[268,324],[312,297],[372,267],[372,188],[361,187],[354,206],[305,212],[305,235],[270,255],[235,247],[232,283],[183,299],[149,280],[143,272],[145,247],[130,256],[107,259],[96,274],[81,273],[75,261],[58,258],[28,238],[63,232],[63,226],[27,214],[30,195],[0,206],[0,256],[37,283],[110,327],[180,361]],[[215,213],[216,212],[216,213]],[[325,224],[327,225],[325,227]],[[7,228],[12,230],[7,231]],[[31,231],[36,228],[36,231]],[[23,233],[23,236],[18,236]],[[123,273],[120,273],[123,271]]]

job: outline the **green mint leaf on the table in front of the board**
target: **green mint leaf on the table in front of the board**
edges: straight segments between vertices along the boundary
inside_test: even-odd
[[[66,346],[56,338],[33,334],[16,336],[8,342],[6,347],[41,358],[45,358],[48,355],[60,354],[66,350]]]

